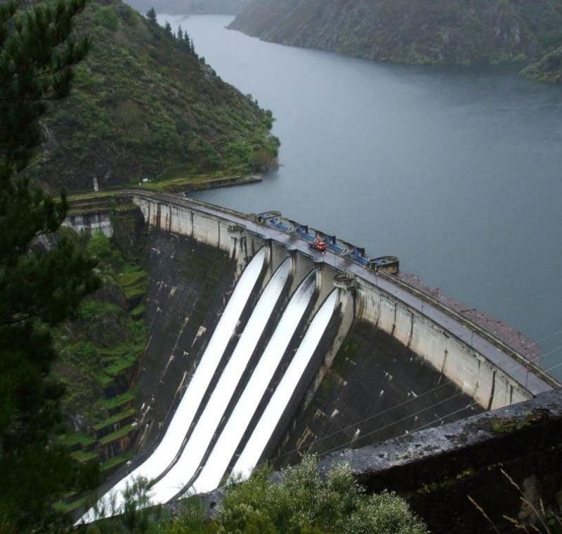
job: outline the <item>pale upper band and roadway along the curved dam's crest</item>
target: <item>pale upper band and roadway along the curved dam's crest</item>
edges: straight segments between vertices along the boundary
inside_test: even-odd
[[[282,254],[278,252],[281,246],[303,256],[303,260],[311,258],[318,263],[317,283],[323,294],[334,287],[337,275],[345,273],[353,286],[353,301],[346,309],[353,308],[354,319],[366,320],[391,334],[487,410],[524,401],[557,384],[523,356],[496,343],[489,332],[459,320],[455,313],[436,306],[431,299],[421,298],[419,292],[393,276],[329,251],[315,253],[306,240],[287,233],[289,227],[277,212],[272,212],[275,222],[268,226],[270,217],[246,216],[173,195],[133,192],[132,197],[151,227],[219,247],[237,261],[239,270],[268,243],[273,254]],[[334,353],[330,351],[325,365],[329,365]],[[314,380],[315,386],[321,379],[322,371]],[[311,395],[309,391],[307,398]]]

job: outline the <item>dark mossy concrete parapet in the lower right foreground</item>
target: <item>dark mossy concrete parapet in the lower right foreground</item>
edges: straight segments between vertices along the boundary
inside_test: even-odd
[[[321,471],[346,462],[369,493],[404,495],[434,534],[512,533],[504,515],[532,521],[526,499],[540,510],[556,507],[562,490],[562,392],[537,397],[379,445],[342,450],[320,462]],[[537,518],[535,517],[535,523]]]

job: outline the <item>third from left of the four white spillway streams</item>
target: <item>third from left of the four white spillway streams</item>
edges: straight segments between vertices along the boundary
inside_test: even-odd
[[[266,392],[277,366],[280,364],[285,351],[287,351],[289,341],[291,341],[296,327],[311,301],[315,287],[314,282],[315,274],[312,272],[296,289],[244,392],[230,415],[228,423],[216,441],[211,455],[207,458],[207,462],[205,462],[189,493],[205,493],[214,490],[221,483],[221,479],[228,469],[228,464],[235,454],[251,418],[254,417],[263,393]]]

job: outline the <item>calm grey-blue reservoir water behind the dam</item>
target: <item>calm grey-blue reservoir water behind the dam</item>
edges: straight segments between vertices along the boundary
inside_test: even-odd
[[[540,340],[562,376],[562,88],[518,67],[407,67],[181,24],[277,121],[279,171],[199,193],[400,256],[403,271]],[[544,337],[549,336],[547,339]]]

